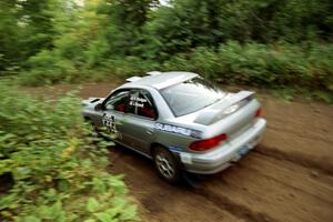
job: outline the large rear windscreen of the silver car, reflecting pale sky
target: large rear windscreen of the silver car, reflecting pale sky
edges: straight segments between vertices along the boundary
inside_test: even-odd
[[[172,112],[180,117],[218,102],[225,92],[202,78],[194,78],[162,89],[161,94]]]

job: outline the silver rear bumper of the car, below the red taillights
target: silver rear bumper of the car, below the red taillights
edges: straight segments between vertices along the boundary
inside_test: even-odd
[[[179,153],[184,170],[200,174],[213,174],[229,168],[260,142],[265,128],[266,121],[259,118],[251,128],[232,141],[223,142],[221,147],[211,152]]]

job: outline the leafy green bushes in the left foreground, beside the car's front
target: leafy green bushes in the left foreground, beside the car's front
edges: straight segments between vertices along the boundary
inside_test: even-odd
[[[121,176],[105,171],[108,143],[88,137],[78,98],[37,100],[0,89],[0,175],[12,176],[0,193],[1,221],[138,219]]]

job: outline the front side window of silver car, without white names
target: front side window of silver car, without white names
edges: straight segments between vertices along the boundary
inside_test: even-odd
[[[105,102],[107,110],[125,111],[125,103],[129,98],[129,91],[122,90],[113,93]]]

